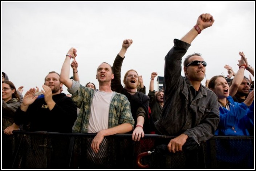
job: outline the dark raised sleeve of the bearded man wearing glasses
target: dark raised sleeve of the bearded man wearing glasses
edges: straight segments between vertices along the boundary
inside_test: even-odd
[[[123,86],[121,84],[121,68],[123,64],[123,59],[121,56],[117,54],[115,57],[112,69],[114,73],[114,79],[111,81],[111,89],[117,93],[121,93]]]

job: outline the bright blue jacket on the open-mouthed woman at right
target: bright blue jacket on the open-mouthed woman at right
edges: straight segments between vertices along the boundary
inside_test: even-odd
[[[220,105],[220,123],[215,135],[249,136],[248,129],[253,128],[253,112],[244,103],[234,102],[231,96],[227,100],[230,110]]]

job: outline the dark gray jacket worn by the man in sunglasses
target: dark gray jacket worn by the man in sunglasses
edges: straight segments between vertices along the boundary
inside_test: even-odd
[[[197,143],[214,136],[218,127],[218,97],[200,85],[196,94],[190,80],[181,76],[182,57],[190,44],[174,39],[174,47],[165,57],[164,106],[155,127],[161,134],[179,136],[184,133]]]

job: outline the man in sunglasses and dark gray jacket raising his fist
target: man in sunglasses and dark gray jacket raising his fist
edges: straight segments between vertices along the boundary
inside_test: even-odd
[[[174,39],[174,47],[165,57],[164,106],[155,127],[160,134],[177,136],[167,145],[171,153],[197,149],[201,141],[214,136],[218,127],[217,96],[201,84],[207,63],[200,54],[187,56],[183,63],[185,77],[181,76],[180,66],[190,43],[213,23],[211,14],[201,14],[181,40]]]

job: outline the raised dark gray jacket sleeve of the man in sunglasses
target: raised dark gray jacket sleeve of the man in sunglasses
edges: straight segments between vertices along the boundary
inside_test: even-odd
[[[164,64],[164,94],[171,94],[171,91],[175,91],[182,70],[182,57],[186,54],[191,44],[183,42],[178,39],[174,39],[174,47],[165,56]]]

